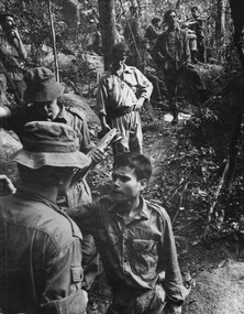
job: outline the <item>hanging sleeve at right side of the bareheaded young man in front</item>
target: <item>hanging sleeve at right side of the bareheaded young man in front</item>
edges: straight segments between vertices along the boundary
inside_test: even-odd
[[[178,307],[186,299],[188,291],[182,285],[171,223],[167,216],[163,220],[162,247],[159,250],[159,269],[165,270],[164,288],[171,306]]]

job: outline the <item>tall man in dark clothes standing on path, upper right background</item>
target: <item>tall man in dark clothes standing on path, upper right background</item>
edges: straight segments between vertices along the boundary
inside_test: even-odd
[[[178,122],[177,79],[184,76],[198,93],[198,100],[208,99],[204,83],[198,69],[190,64],[188,35],[177,22],[176,12],[168,10],[164,14],[167,29],[158,36],[153,48],[157,66],[163,69],[167,85],[169,107],[173,112],[173,124]]]

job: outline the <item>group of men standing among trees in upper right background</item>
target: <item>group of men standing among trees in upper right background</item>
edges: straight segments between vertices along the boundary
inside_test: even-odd
[[[199,67],[196,66],[197,63],[204,63],[203,21],[197,6],[191,8],[191,13],[192,20],[180,24],[177,12],[168,10],[163,19],[154,17],[143,34],[138,8],[132,6],[123,31],[123,43],[129,47],[127,65],[136,66],[144,73],[144,59],[146,56],[153,59],[156,75],[147,75],[155,89],[153,101],[162,101],[162,96],[168,99],[173,124],[178,122],[177,88],[181,78],[188,89],[192,89],[189,93],[196,101],[202,104],[209,98]]]

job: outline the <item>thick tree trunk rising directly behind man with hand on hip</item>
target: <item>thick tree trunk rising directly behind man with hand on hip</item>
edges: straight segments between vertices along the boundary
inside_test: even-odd
[[[115,10],[114,0],[98,0],[102,52],[104,57],[104,69],[111,64],[111,47],[115,43]]]

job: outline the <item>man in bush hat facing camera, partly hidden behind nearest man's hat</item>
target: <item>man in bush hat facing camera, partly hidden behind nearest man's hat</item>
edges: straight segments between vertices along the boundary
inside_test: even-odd
[[[2,118],[0,126],[13,130],[22,140],[26,122],[42,120],[65,123],[75,130],[79,140],[77,143],[79,151],[89,152],[93,163],[100,162],[103,159],[103,152],[96,149],[91,141],[85,115],[75,108],[65,108],[57,101],[64,91],[64,87],[56,82],[54,73],[46,67],[36,67],[27,73],[25,82],[27,88],[24,99],[30,105],[16,109],[7,106],[0,107],[0,121]],[[4,110],[8,112],[2,113]],[[90,203],[91,192],[86,180],[81,177],[73,182],[67,195],[59,202],[64,209],[69,207],[75,210],[79,208],[80,204]],[[98,270],[98,256],[93,240],[89,235],[84,235],[84,241],[85,279],[91,283]],[[91,271],[89,271],[90,268]]]

